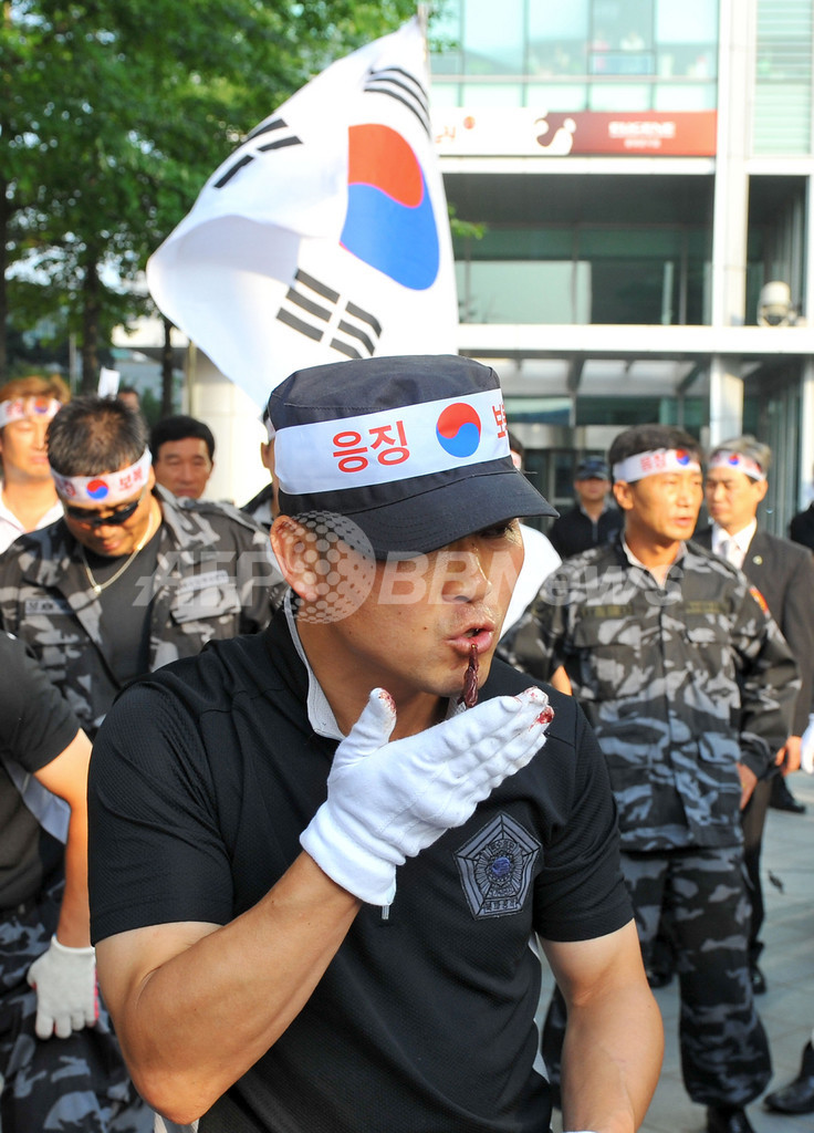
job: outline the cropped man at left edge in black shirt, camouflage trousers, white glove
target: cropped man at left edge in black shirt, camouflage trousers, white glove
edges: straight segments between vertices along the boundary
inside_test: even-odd
[[[0,1126],[147,1133],[96,994],[87,908],[91,744],[0,633]]]

